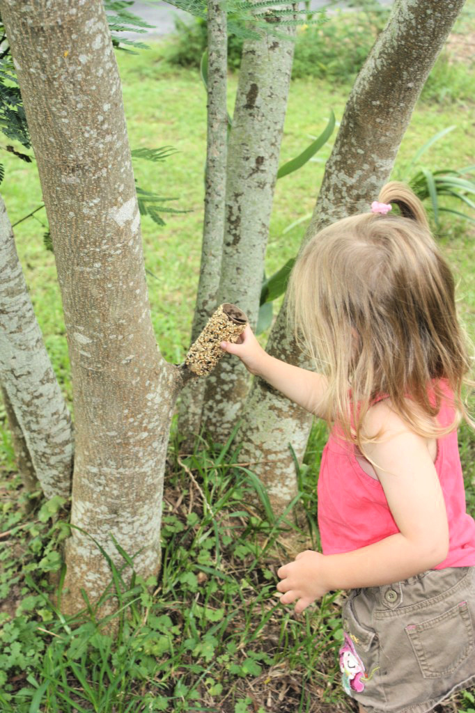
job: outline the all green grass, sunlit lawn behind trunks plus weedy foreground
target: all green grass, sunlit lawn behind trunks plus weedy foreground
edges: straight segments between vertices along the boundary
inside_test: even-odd
[[[474,31],[471,0],[457,31]],[[172,145],[165,163],[137,160],[141,188],[176,197],[190,212],[158,228],[143,219],[143,244],[153,324],[163,354],[183,359],[198,284],[203,220],[205,93],[195,71],[172,68],[162,46],[137,56],[119,54],[132,148]],[[417,150],[449,125],[456,129],[424,155],[424,165],[460,168],[472,160],[467,61],[444,54],[414,111],[394,168],[404,172]],[[229,78],[233,111],[237,77]],[[292,82],[281,163],[318,135],[332,109],[341,119],[349,84],[299,78]],[[334,137],[333,137],[334,138]],[[0,141],[0,145],[4,145]],[[277,182],[266,270],[295,255],[332,142],[315,160]],[[4,153],[1,186],[12,222],[41,203],[34,169]],[[44,211],[15,228],[19,255],[53,366],[68,401],[68,355],[54,260],[43,245]],[[475,338],[474,229],[443,216],[442,250],[456,272],[461,316]],[[0,414],[1,418],[1,414]],[[272,513],[256,481],[235,464],[235,453],[170,445],[163,514],[160,578],[135,578],[130,588],[115,572],[122,615],[114,643],[107,623],[90,608],[65,620],[49,595],[61,582],[58,545],[68,533],[61,503],[28,497],[15,474],[11,438],[0,431],[0,707],[10,713],[317,713],[351,707],[342,696],[335,662],[341,640],[339,595],[327,596],[299,618],[277,604],[277,567],[298,549],[317,547],[315,487],[324,424],[315,424],[300,468],[300,505],[286,523]],[[475,438],[460,430],[469,511],[475,513]],[[33,508],[33,509],[31,509]],[[26,515],[26,512],[29,515]],[[6,533],[6,534],[5,534]],[[133,553],[129,553],[133,555]],[[53,582],[56,581],[56,584]],[[150,585],[152,589],[150,590]],[[116,593],[116,594],[117,594]],[[111,596],[113,592],[106,594]],[[73,627],[73,623],[75,627]],[[459,709],[473,704],[459,695]],[[40,704],[41,701],[41,704]],[[447,704],[447,713],[452,708]]]

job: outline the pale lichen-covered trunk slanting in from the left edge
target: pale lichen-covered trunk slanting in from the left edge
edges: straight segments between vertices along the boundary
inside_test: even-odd
[[[71,417],[34,315],[0,197],[0,384],[16,460],[29,491],[71,493]]]

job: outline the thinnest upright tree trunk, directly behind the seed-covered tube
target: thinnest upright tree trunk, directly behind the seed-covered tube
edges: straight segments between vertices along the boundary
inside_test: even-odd
[[[223,0],[208,2],[208,133],[205,172],[205,220],[200,280],[191,341],[200,334],[219,304],[225,229],[226,163],[228,158],[228,28]],[[191,443],[200,432],[205,396],[204,379],[192,379],[180,395],[178,431]]]

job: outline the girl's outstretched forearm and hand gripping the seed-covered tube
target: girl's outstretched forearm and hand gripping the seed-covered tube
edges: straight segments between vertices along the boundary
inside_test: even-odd
[[[323,374],[300,369],[270,356],[257,342],[250,327],[242,332],[240,342],[221,342],[221,348],[228,354],[238,356],[247,371],[261,376],[275,389],[282,391],[287,399],[322,417],[322,401],[327,390],[327,379]]]

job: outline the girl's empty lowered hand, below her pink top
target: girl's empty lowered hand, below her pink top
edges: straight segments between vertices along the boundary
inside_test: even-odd
[[[300,614],[308,605],[330,591],[325,583],[325,555],[313,550],[301,552],[293,562],[277,570],[282,580],[277,590],[283,592],[281,604],[292,604],[297,600],[295,613]]]

